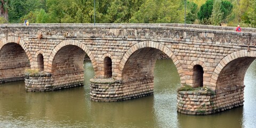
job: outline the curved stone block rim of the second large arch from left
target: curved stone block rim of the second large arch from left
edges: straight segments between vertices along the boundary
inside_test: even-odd
[[[54,59],[55,55],[62,47],[67,46],[67,45],[75,45],[75,46],[80,47],[89,56],[89,58],[92,62],[94,71],[95,71],[95,73],[97,73],[97,62],[96,62],[92,52],[83,43],[73,40],[73,39],[68,39],[68,40],[62,41],[57,46],[54,47],[54,49],[52,50],[52,53],[50,55],[50,58],[49,58],[49,65],[47,67],[47,71],[51,72],[52,63],[53,63],[53,59]]]

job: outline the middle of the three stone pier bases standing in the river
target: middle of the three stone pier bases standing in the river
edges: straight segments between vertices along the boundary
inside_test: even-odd
[[[111,102],[145,97],[154,92],[154,77],[133,78],[116,81],[111,78],[92,78],[91,99]]]

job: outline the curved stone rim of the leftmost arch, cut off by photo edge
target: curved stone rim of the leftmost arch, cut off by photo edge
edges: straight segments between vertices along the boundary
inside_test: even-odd
[[[22,49],[25,51],[25,53],[27,54],[27,57],[29,59],[29,63],[30,63],[30,67],[33,65],[33,59],[31,57],[30,52],[28,51],[28,47],[26,45],[26,43],[23,41],[23,39],[21,39],[21,37],[17,37],[17,36],[8,36],[8,38],[2,38],[2,41],[0,41],[0,50],[2,49],[2,47],[7,44],[7,43],[16,43],[19,44]]]

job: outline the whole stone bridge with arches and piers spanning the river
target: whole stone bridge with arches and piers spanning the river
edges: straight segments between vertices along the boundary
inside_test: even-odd
[[[172,59],[181,85],[178,111],[211,114],[243,105],[244,76],[256,58],[256,29],[181,24],[2,24],[0,82],[25,79],[27,91],[83,85],[87,54],[94,101],[121,101],[154,91],[159,54]],[[38,70],[38,71],[37,71]],[[171,77],[171,76],[170,76]],[[207,91],[207,89],[212,91]]]

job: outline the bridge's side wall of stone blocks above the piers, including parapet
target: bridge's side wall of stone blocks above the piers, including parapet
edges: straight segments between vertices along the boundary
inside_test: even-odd
[[[11,42],[20,44],[28,55],[32,69],[39,67],[37,55],[43,54],[44,71],[53,73],[57,62],[55,60],[66,59],[70,52],[65,46],[72,45],[74,49],[80,49],[89,55],[95,76],[99,78],[105,77],[103,59],[107,54],[112,61],[112,77],[117,80],[125,79],[123,69],[129,63],[132,54],[139,49],[151,47],[164,52],[173,60],[181,77],[181,84],[193,85],[193,69],[190,67],[194,63],[202,64],[204,86],[215,89],[216,77],[219,74],[212,74],[219,62],[231,53],[247,50],[249,37],[251,45],[256,42],[255,33],[236,33],[225,27],[222,29],[193,25],[182,28],[182,25],[167,24],[85,25],[1,26],[0,47]],[[255,51],[255,47],[251,46],[250,50]],[[61,51],[67,51],[67,54],[60,58],[58,54]],[[138,52],[138,56],[141,57],[145,54],[146,51]],[[254,52],[252,54],[254,55]],[[71,67],[75,68],[75,64],[82,65],[81,63],[79,60]]]

